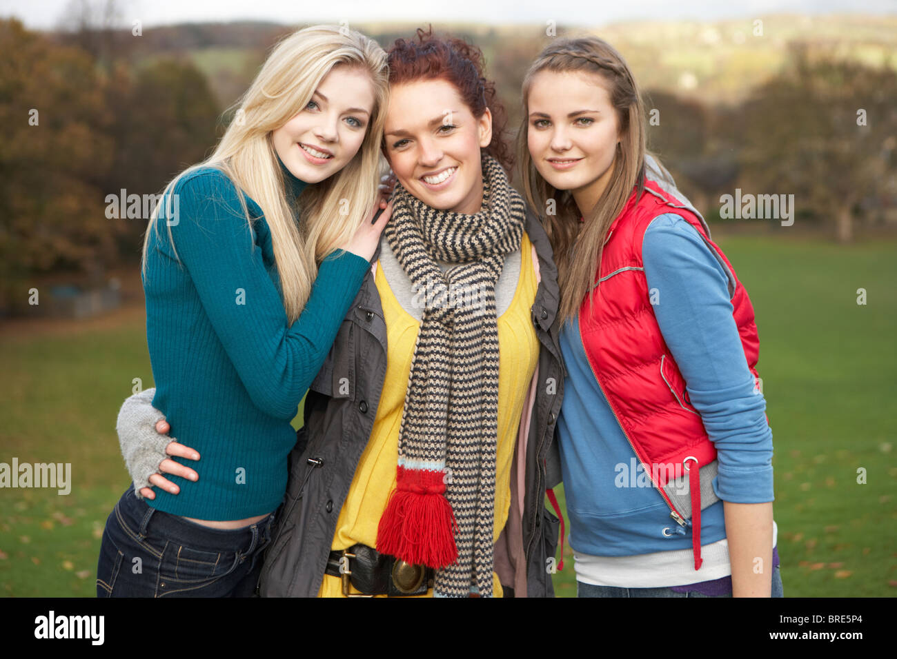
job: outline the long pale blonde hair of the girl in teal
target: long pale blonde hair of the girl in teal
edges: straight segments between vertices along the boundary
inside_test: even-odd
[[[326,180],[307,186],[300,195],[296,209],[302,218],[300,226],[287,203],[271,134],[305,108],[318,84],[336,65],[360,67],[370,75],[373,114],[353,160]],[[309,299],[318,264],[353,237],[377,204],[379,143],[387,106],[387,55],[376,41],[332,25],[297,30],[276,45],[237,101],[237,118],[231,121],[212,155],[172,179],[162,199],[169,197],[180,178],[202,167],[221,169],[231,178],[250,223],[244,195],[254,199],[271,230],[283,306],[292,323]],[[150,230],[158,232],[159,218],[165,216],[164,205],[157,205],[144,236],[144,273]],[[168,231],[171,238],[170,226]]]

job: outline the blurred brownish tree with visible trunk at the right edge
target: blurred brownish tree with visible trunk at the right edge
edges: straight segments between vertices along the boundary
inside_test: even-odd
[[[849,241],[860,201],[893,195],[897,74],[791,49],[791,64],[745,103],[743,186],[795,195],[798,209],[834,216]]]

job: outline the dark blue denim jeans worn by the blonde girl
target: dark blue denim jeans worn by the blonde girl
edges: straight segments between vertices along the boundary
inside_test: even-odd
[[[97,597],[251,597],[273,523],[198,525],[148,506],[132,484],[106,520]]]

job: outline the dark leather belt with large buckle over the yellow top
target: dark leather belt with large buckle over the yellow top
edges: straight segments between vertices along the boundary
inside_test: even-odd
[[[346,597],[408,597],[426,594],[433,585],[432,568],[381,554],[366,544],[331,551],[325,574],[343,580],[343,594]],[[350,592],[350,584],[358,593]]]

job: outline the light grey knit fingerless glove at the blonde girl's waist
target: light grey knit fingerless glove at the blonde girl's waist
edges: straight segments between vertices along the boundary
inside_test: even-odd
[[[134,481],[137,499],[143,499],[141,488],[152,488],[150,476],[159,471],[162,460],[168,457],[165,447],[176,441],[175,438],[156,432],[156,421],[164,419],[165,415],[152,406],[155,394],[153,387],[126,398],[116,421],[118,444],[121,446],[127,471]]]

